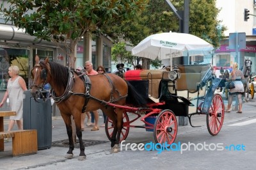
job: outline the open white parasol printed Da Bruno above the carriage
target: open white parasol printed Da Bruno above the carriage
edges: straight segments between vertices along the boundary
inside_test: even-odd
[[[170,59],[180,56],[209,54],[214,48],[205,40],[185,33],[150,35],[132,49],[132,55],[149,59]]]

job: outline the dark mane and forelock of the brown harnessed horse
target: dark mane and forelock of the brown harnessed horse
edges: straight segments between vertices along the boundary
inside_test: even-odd
[[[68,68],[52,61],[48,61],[48,63],[50,65],[51,77],[54,79],[54,82],[65,88],[68,84]],[[47,69],[47,65],[45,65],[44,62],[40,62],[39,64]]]

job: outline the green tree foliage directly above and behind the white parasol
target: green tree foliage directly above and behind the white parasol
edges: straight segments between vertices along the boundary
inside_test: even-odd
[[[171,0],[177,10],[184,10],[184,0]],[[224,37],[225,26],[217,20],[220,12],[216,8],[216,0],[191,0],[189,3],[189,33],[203,38],[214,47],[220,45]],[[179,20],[164,0],[150,0],[145,10],[136,17],[120,22],[111,22],[102,27],[102,31],[118,40],[122,36],[125,40],[137,45],[149,35],[163,32],[179,32]],[[148,61],[143,61],[148,63]],[[151,62],[152,63],[152,62]],[[155,62],[156,63],[156,62]],[[143,68],[148,68],[144,66]]]

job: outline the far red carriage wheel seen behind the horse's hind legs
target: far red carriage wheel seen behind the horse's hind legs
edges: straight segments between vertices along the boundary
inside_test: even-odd
[[[127,115],[126,112],[124,112],[123,127],[122,127],[121,134],[120,134],[120,142],[124,141],[129,134],[129,124],[127,124],[127,123],[129,123],[129,116]],[[113,121],[107,117],[106,123],[105,123],[105,132],[106,132],[106,135],[107,135],[109,141],[111,141],[113,130],[114,130]]]

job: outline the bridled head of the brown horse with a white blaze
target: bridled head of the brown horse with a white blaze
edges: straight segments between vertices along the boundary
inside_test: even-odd
[[[44,90],[44,85],[48,82],[48,74],[51,73],[48,61],[48,58],[45,60],[40,60],[39,63],[37,63],[31,70],[31,79],[33,79],[33,84],[31,85],[31,95],[34,98],[38,98],[38,95]]]

